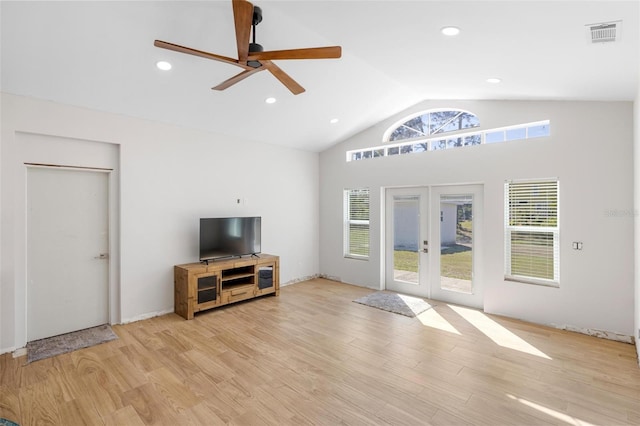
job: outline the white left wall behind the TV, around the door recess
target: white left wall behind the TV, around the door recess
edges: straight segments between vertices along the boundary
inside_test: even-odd
[[[9,94],[1,107],[0,353],[26,343],[24,133],[119,146],[122,322],[173,311],[173,265],[198,260],[202,216],[262,216],[281,282],[317,274],[317,153]]]

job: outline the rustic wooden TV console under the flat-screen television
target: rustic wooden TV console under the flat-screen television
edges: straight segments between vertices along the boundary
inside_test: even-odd
[[[193,314],[266,294],[280,294],[280,258],[270,254],[175,265],[174,308]]]

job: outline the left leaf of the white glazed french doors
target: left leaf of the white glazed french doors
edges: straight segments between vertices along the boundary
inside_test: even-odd
[[[386,191],[385,288],[429,295],[429,189]]]

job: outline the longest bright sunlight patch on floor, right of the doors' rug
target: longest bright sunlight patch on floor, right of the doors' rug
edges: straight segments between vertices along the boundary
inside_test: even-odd
[[[537,349],[521,337],[516,336],[487,315],[475,309],[447,305],[471,325],[480,330],[485,336],[503,348],[509,348],[541,358],[551,359],[547,354]]]

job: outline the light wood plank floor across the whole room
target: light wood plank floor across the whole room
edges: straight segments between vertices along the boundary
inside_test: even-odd
[[[311,280],[25,365],[0,417],[57,425],[640,424],[635,347],[445,303],[408,318]]]

